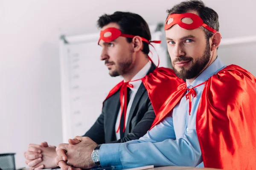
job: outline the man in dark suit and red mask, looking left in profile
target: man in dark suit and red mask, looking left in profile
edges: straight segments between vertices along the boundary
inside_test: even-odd
[[[139,139],[151,127],[155,119],[154,111],[162,104],[159,103],[159,91],[154,91],[150,87],[158,87],[154,88],[155,90],[161,88],[160,84],[154,84],[161,73],[156,71],[156,65],[148,57],[151,40],[148,24],[138,14],[115,12],[99,17],[98,26],[102,28],[98,42],[102,47],[100,59],[105,61],[111,77],[122,76],[124,81],[110,91],[103,103],[101,115],[84,136],[97,144]],[[164,79],[169,83],[166,84],[168,92],[170,84],[175,88],[181,81],[176,81],[172,71],[167,72],[169,75]],[[152,74],[151,79],[143,79],[149,74]],[[170,79],[173,78],[172,83],[168,77],[170,75]],[[153,105],[151,100],[156,95],[157,99]],[[31,169],[56,167],[52,164],[56,157],[55,147],[48,146],[47,142],[41,145],[30,144],[24,155],[26,164]]]

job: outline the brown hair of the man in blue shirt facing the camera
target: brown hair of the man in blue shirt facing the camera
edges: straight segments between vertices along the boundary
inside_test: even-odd
[[[183,1],[171,9],[167,10],[168,16],[169,14],[183,14],[190,10],[197,11],[199,17],[202,18],[204,23],[213,29],[219,31],[219,22],[218,22],[218,14],[212,8],[205,6],[204,2],[201,0],[187,0]],[[167,17],[168,17],[167,16]],[[207,40],[212,37],[212,32],[204,28],[205,35]]]

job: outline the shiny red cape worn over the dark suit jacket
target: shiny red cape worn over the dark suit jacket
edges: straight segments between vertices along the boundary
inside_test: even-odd
[[[160,107],[168,99],[169,95],[177,90],[180,84],[186,84],[183,79],[176,76],[175,72],[170,68],[156,68],[154,71],[142,78],[143,85],[148,91],[155,114],[158,113]],[[121,88],[124,81],[119,82],[108,94],[108,99],[116,91]]]

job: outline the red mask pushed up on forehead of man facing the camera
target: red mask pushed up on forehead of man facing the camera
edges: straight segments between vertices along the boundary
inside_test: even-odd
[[[217,32],[215,29],[205,24],[202,18],[192,13],[170,14],[169,17],[166,19],[164,30],[168,30],[175,24],[178,24],[181,28],[184,29],[196,29],[203,26],[212,33]]]

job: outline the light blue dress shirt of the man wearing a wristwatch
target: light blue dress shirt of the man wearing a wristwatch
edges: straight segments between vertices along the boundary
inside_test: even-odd
[[[205,82],[225,66],[217,57],[188,88]],[[186,96],[175,106],[160,124],[149,130],[138,140],[117,144],[102,144],[99,159],[102,167],[115,166],[128,169],[146,165],[157,166],[198,166],[204,167],[201,149],[195,128],[196,113],[204,85],[195,88],[197,96],[192,98],[191,115]]]

